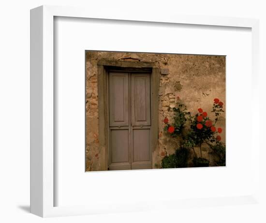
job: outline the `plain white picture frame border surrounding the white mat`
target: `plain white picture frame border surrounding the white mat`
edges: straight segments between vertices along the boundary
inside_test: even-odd
[[[160,23],[177,23],[189,25],[208,25],[223,27],[251,28],[252,35],[252,119],[259,111],[259,21],[249,18],[215,17],[200,15],[136,15],[135,13],[105,15],[101,11],[61,6],[40,6],[30,11],[30,212],[42,217],[83,215],[105,212],[124,212],[132,210],[156,209],[141,201],[135,205],[103,206],[101,210],[90,206],[54,207],[54,17],[96,18],[126,21],[146,21]],[[254,185],[259,187],[259,124],[252,123],[252,159]],[[257,171],[257,172],[256,172]],[[227,204],[250,204],[258,202],[259,192],[253,191],[249,196],[209,198],[197,200],[197,205],[210,202]],[[191,199],[191,198],[190,198]],[[184,201],[182,201],[184,202]],[[173,208],[180,207],[172,201]],[[169,203],[170,205],[170,203]],[[197,206],[196,205],[196,206]],[[192,206],[187,204],[188,207]],[[193,203],[195,206],[195,201]],[[167,206],[166,206],[167,207]]]

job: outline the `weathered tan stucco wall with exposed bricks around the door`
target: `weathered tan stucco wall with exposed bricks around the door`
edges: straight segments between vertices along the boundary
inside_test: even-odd
[[[225,101],[225,56],[124,53],[88,51],[86,54],[86,170],[104,170],[104,151],[99,150],[99,116],[97,89],[97,62],[100,59],[120,61],[154,62],[156,67],[167,68],[169,74],[161,74],[159,88],[159,140],[158,149],[152,154],[153,168],[161,164],[166,154],[172,154],[178,143],[163,132],[163,119],[167,117],[172,122],[172,112],[169,106],[177,103],[177,98],[187,105],[192,115],[198,108],[210,112],[213,99]],[[217,127],[222,127],[222,142],[225,142],[225,112],[220,116]],[[203,145],[203,156],[210,160],[208,148]],[[102,149],[103,150],[103,149]],[[199,149],[196,148],[199,153]]]

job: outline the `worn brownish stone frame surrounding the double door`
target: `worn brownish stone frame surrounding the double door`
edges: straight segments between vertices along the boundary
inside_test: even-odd
[[[108,148],[109,148],[109,102],[108,102],[108,71],[126,70],[130,71],[149,71],[151,81],[151,164],[154,166],[152,152],[158,147],[159,135],[159,83],[160,69],[153,62],[141,61],[115,61],[100,59],[97,63],[97,82],[98,82],[98,104],[99,104],[99,151],[104,154],[104,167],[108,170]]]

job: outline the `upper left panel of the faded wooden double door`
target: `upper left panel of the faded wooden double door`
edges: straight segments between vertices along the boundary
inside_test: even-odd
[[[109,74],[110,126],[129,125],[129,78],[127,73]]]

